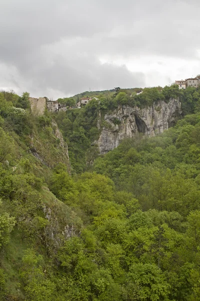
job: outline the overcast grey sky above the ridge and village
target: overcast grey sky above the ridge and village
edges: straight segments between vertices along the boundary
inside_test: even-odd
[[[53,100],[200,74],[199,0],[0,0],[0,89]]]

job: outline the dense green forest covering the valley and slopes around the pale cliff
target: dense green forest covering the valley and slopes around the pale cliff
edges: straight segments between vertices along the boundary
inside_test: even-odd
[[[135,94],[36,116],[0,92],[0,299],[200,300],[200,90]],[[99,112],[170,97],[173,127],[98,155]]]

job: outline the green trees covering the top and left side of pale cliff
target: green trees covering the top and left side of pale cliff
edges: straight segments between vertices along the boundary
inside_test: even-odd
[[[96,96],[95,92],[91,93]],[[110,126],[104,120],[104,115],[112,114],[119,106],[143,108],[154,104],[156,109],[158,100],[168,102],[170,98],[179,98],[182,114],[176,119],[198,112],[200,109],[200,88],[188,87],[180,90],[178,85],[144,88],[138,95],[134,89],[120,89],[117,93],[113,90],[112,94],[102,93],[97,96],[97,100],[92,99],[81,109],[60,111],[53,116],[68,144],[72,172],[75,173],[90,170],[93,161],[98,157],[95,141],[102,127]],[[113,123],[120,124],[120,121],[115,119]]]

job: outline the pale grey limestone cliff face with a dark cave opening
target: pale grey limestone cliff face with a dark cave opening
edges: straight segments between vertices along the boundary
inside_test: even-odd
[[[120,106],[112,114],[105,115],[97,141],[100,154],[106,154],[117,147],[124,138],[134,137],[137,133],[155,136],[168,129],[175,117],[180,116],[179,99],[163,100],[146,108]]]

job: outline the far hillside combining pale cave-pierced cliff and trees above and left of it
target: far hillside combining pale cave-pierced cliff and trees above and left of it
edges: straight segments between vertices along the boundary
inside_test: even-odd
[[[155,135],[186,114],[199,111],[199,89],[177,85],[144,88],[139,95],[119,91],[100,96],[81,109],[54,114],[68,144],[72,172],[89,170],[99,153],[106,153],[127,137]]]

